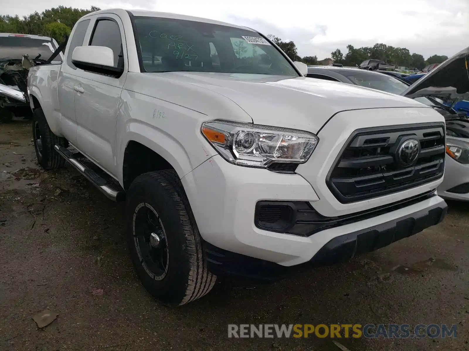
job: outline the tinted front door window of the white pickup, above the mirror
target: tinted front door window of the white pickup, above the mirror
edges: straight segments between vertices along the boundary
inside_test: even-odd
[[[90,45],[106,46],[114,52],[114,67],[124,67],[121,30],[113,20],[98,20],[91,36]]]

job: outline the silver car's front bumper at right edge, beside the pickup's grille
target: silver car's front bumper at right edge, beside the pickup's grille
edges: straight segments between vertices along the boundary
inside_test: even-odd
[[[469,164],[462,164],[446,155],[445,177],[437,188],[438,195],[448,200],[469,201],[469,190],[465,192],[463,184],[468,184],[469,188]]]

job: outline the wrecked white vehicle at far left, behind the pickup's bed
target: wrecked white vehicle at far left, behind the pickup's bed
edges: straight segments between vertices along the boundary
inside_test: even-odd
[[[26,80],[28,70],[47,62],[59,45],[50,37],[0,33],[0,123],[14,116],[31,117]],[[54,63],[61,63],[57,55]]]

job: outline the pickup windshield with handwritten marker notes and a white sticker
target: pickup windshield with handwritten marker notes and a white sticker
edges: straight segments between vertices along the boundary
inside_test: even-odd
[[[219,24],[134,17],[145,72],[225,72],[298,77],[260,34]]]

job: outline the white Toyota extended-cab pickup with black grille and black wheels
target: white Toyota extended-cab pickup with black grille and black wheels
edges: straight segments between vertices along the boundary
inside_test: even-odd
[[[253,29],[94,12],[62,64],[30,69],[38,161],[125,199],[138,276],[170,306],[220,275],[271,280],[439,223],[443,117],[305,73]]]

